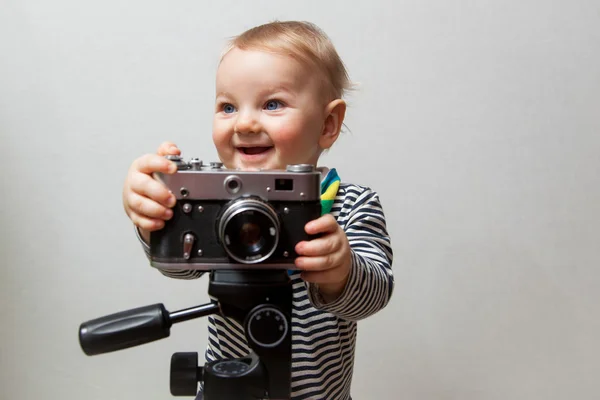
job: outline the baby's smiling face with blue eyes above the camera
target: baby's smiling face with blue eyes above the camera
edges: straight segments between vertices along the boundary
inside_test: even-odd
[[[213,141],[227,168],[316,164],[325,108],[319,79],[291,57],[232,49],[217,70]]]

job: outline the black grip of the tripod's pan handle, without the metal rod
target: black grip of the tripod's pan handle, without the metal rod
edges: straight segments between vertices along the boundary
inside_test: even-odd
[[[153,304],[82,323],[79,343],[88,356],[108,353],[164,339],[171,325],[164,305]]]

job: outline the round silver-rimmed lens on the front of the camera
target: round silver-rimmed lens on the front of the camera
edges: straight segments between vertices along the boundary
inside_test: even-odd
[[[255,198],[235,200],[219,220],[219,240],[234,260],[256,264],[268,259],[279,242],[279,219],[271,206]]]

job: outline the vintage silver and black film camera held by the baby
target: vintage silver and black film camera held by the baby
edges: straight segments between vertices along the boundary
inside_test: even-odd
[[[177,164],[156,173],[176,197],[173,217],[150,234],[150,264],[164,270],[295,269],[304,226],[321,216],[321,174],[308,164],[284,170],[229,170],[220,162]]]

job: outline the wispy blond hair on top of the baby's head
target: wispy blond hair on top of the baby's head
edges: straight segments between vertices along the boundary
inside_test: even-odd
[[[221,60],[233,48],[261,50],[290,56],[315,68],[327,87],[329,100],[342,98],[352,89],[346,67],[329,37],[305,21],[274,21],[233,37]]]

